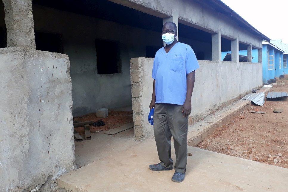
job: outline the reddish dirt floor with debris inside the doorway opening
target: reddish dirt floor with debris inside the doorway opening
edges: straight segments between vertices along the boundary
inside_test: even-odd
[[[108,117],[105,118],[98,118],[96,117],[96,113],[90,113],[86,115],[82,115],[81,117],[74,118],[75,121],[97,121],[102,120],[105,123],[105,126],[95,127],[93,125],[90,125],[91,133],[109,130],[113,128],[117,128],[120,126],[123,126],[127,123],[133,122],[132,117],[133,112],[121,112],[121,111],[111,111],[108,113]],[[78,131],[80,135],[84,135],[84,127],[75,127],[75,129]]]

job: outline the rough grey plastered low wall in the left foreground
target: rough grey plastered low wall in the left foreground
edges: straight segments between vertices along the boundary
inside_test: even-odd
[[[0,191],[53,191],[75,168],[69,58],[0,49]]]

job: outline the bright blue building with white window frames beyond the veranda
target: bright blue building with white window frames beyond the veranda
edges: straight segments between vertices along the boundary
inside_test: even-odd
[[[263,83],[267,83],[275,78],[279,78],[280,75],[283,75],[283,72],[285,74],[288,74],[287,69],[287,56],[285,55],[285,51],[278,48],[274,44],[263,41],[263,47],[262,47],[262,80]],[[288,46],[287,46],[288,51]],[[222,52],[221,53],[221,59],[222,61],[230,55],[231,52]],[[283,58],[284,54],[284,58]],[[241,50],[239,51],[239,61],[245,61],[247,62],[247,59],[245,60],[245,57],[247,57],[247,50]],[[258,63],[258,51],[257,49],[252,49],[252,63]]]

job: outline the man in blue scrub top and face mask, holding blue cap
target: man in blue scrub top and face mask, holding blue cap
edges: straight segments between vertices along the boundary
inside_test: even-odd
[[[149,165],[153,171],[173,169],[171,136],[176,154],[175,173],[172,181],[182,182],[187,164],[188,115],[191,113],[191,97],[195,82],[195,70],[199,68],[193,49],[176,40],[177,26],[173,22],[163,25],[162,39],[167,44],[155,55],[152,78],[153,93],[150,109],[154,109],[154,135],[158,164]]]

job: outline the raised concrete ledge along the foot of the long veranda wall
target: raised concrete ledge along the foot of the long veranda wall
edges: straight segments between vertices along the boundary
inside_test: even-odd
[[[270,89],[270,87],[262,87],[258,92],[264,92],[266,94]],[[234,117],[239,115],[241,111],[250,107],[250,105],[250,100],[238,100],[235,103],[216,111],[215,114],[208,115],[204,120],[189,125],[187,136],[188,145],[196,147],[206,137],[213,133],[216,128],[219,128],[232,120]]]

